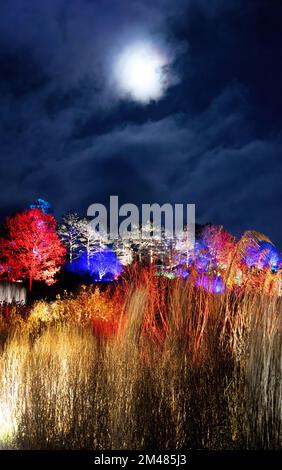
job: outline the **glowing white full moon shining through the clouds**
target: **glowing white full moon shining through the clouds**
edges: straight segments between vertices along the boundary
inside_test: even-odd
[[[152,45],[128,46],[115,66],[119,91],[144,104],[160,99],[165,89],[164,67],[167,64],[167,58]]]

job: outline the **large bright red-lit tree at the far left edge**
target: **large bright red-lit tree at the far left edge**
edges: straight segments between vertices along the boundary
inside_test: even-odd
[[[55,282],[55,274],[64,262],[65,248],[56,232],[57,222],[40,209],[31,209],[8,217],[7,237],[0,240],[0,264],[9,266],[12,279]]]

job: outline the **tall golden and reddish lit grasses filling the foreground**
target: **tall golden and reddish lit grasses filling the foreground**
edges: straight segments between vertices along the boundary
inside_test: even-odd
[[[1,352],[0,446],[280,448],[281,310],[148,272],[37,303]]]

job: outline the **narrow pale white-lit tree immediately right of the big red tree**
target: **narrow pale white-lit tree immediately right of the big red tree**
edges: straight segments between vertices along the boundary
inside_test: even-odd
[[[75,212],[69,212],[62,218],[58,234],[67,249],[70,263],[80,255],[83,248],[81,219]]]

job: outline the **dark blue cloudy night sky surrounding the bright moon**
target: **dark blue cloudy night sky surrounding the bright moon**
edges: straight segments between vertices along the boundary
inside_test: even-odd
[[[195,203],[281,249],[281,25],[279,0],[1,0],[1,218]],[[135,44],[165,58],[156,97],[120,87]]]

